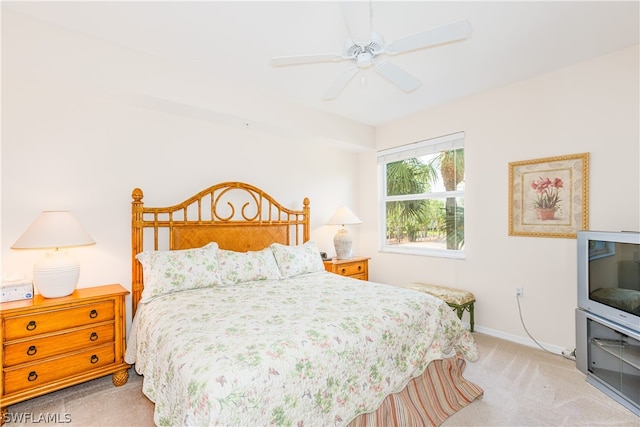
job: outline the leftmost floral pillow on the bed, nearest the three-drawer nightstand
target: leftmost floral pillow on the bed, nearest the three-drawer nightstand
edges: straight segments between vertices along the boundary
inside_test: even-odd
[[[136,258],[144,275],[140,302],[172,292],[220,285],[217,255],[215,242],[195,249],[139,253]]]

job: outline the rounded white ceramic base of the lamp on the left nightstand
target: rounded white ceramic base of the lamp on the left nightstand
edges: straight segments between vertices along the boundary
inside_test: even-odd
[[[45,298],[71,295],[79,277],[80,264],[62,251],[47,253],[33,268],[33,283]]]

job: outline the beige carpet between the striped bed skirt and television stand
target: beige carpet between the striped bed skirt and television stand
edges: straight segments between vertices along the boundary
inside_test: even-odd
[[[640,418],[588,384],[576,364],[537,348],[474,334],[480,359],[465,378],[484,396],[443,426],[640,426]]]

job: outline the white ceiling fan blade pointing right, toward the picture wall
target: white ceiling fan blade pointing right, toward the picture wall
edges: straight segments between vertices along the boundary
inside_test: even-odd
[[[471,25],[469,21],[464,19],[395,40],[387,45],[386,53],[394,55],[410,50],[424,49],[466,39],[469,34],[471,34]]]

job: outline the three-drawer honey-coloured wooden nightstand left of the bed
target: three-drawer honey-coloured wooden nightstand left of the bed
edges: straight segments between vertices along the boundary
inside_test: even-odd
[[[76,289],[61,298],[0,304],[0,408],[113,374],[124,385],[125,305],[120,285]],[[0,423],[1,424],[1,423]]]

